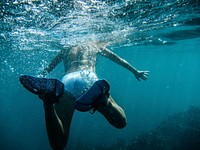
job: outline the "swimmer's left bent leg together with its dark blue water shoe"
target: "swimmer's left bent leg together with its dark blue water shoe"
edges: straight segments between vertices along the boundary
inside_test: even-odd
[[[44,102],[46,128],[51,147],[64,149],[74,112],[74,96],[64,90],[64,84],[57,79],[20,76],[21,84]]]

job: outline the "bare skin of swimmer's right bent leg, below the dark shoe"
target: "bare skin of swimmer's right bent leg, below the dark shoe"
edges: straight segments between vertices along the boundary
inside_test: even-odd
[[[117,105],[111,96],[104,95],[101,97],[102,102],[97,110],[108,120],[114,127],[122,129],[126,126],[126,115],[123,109]]]

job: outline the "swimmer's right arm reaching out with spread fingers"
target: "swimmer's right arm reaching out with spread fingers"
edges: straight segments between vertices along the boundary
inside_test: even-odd
[[[110,51],[107,48],[102,48],[100,54],[102,56],[112,60],[113,62],[117,63],[118,65],[131,71],[135,75],[136,79],[139,81],[140,81],[140,79],[146,80],[149,75],[148,74],[149,71],[137,70],[135,67],[133,67],[131,64],[129,64],[126,60],[122,59],[117,54],[113,53],[112,51]]]

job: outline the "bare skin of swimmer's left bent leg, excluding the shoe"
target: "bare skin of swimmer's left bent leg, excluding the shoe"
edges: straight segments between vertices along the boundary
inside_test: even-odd
[[[74,97],[66,93],[60,98],[59,103],[44,103],[47,134],[54,150],[62,150],[67,144],[74,103]]]

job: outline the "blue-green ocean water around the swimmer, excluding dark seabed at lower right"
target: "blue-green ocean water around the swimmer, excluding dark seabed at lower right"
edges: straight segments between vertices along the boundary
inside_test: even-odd
[[[99,57],[97,74],[110,83],[127,126],[115,129],[98,112],[76,111],[66,150],[117,149],[169,116],[199,107],[199,14],[198,0],[1,0],[0,149],[51,149],[42,102],[18,78],[37,75],[60,49],[87,40],[109,42],[150,76],[138,82]],[[48,77],[63,74],[59,65]]]

